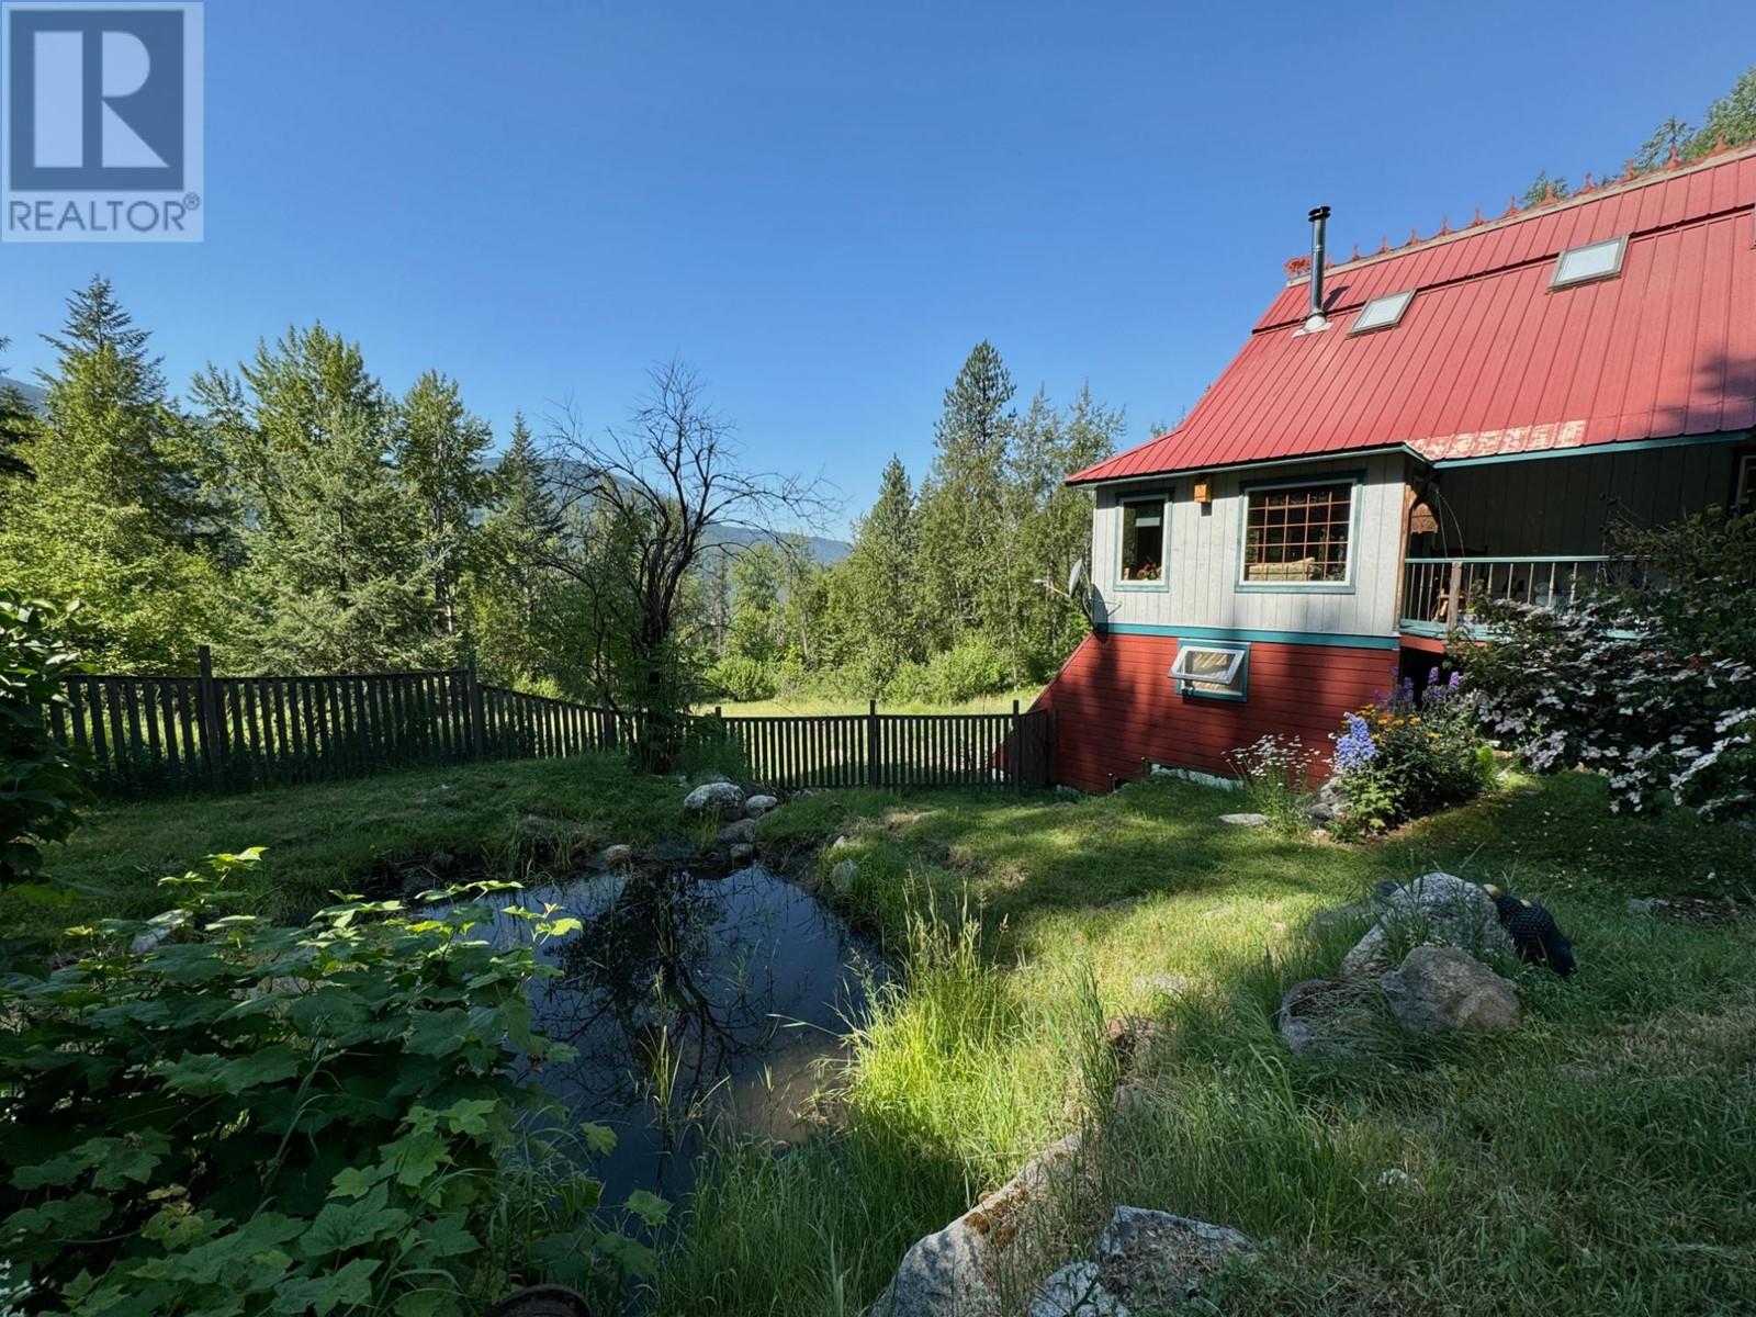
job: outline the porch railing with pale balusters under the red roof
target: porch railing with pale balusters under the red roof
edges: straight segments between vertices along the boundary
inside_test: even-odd
[[[1449,636],[1473,629],[1487,602],[1570,609],[1600,585],[1621,579],[1630,560],[1603,553],[1559,558],[1403,558],[1401,629]]]

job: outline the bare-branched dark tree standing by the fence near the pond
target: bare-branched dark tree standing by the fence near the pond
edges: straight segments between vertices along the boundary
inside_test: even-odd
[[[544,565],[590,601],[587,667],[611,708],[674,727],[687,706],[685,594],[697,567],[736,551],[734,536],[785,541],[834,507],[822,478],[750,471],[734,425],[706,402],[701,374],[669,360],[627,425],[594,432],[574,406],[550,416],[546,479],[569,534]]]

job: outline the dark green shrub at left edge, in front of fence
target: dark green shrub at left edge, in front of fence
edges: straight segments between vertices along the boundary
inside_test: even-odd
[[[63,676],[79,655],[61,637],[65,613],[0,592],[0,887],[42,876],[42,843],[65,841],[88,799],[84,773],[49,734],[67,704]]]

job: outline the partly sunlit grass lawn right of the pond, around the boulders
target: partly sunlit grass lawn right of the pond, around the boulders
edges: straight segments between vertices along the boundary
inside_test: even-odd
[[[1756,1312],[1756,920],[1626,910],[1749,892],[1747,832],[1612,817],[1586,776],[1366,846],[1217,825],[1233,799],[1185,783],[1076,804],[841,794],[773,815],[771,846],[848,839],[820,866],[855,859],[843,901],[906,971],[855,1043],[839,1133],[723,1159],[662,1310],[862,1312],[913,1238],[1083,1127],[1101,1169],[1055,1243],[1010,1264],[1008,1310],[1133,1203],[1264,1247],[1219,1312]],[[1526,969],[1508,1036],[1385,1020],[1371,1061],[1292,1057],[1284,989],[1335,973],[1363,931],[1312,917],[1435,867],[1540,897],[1580,973]],[[1155,990],[1166,973],[1191,990]],[[1119,1011],[1168,1041],[1113,1115],[1094,1038]]]

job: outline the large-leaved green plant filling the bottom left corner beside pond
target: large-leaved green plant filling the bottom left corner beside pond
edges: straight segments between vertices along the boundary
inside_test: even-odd
[[[60,1313],[479,1312],[548,1277],[615,1292],[648,1249],[513,1064],[529,946],[479,899],[341,899],[302,927],[211,917],[258,852],[165,880],[179,910],[76,931],[79,957],[0,980],[0,1254]],[[464,899],[457,899],[464,897]],[[511,906],[537,939],[576,931]],[[202,925],[193,938],[184,934]],[[622,1222],[657,1222],[630,1201]],[[630,1215],[632,1213],[632,1215]]]

